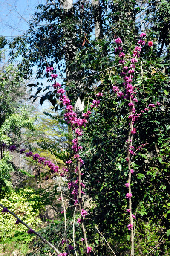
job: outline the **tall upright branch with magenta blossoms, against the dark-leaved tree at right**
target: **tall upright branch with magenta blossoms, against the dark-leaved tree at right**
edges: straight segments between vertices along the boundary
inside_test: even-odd
[[[160,105],[160,103],[157,101],[155,104],[150,103],[148,105],[148,108],[144,108],[144,110],[141,110],[141,113],[136,113],[135,109],[135,104],[137,104],[138,99],[136,97],[137,95],[137,90],[138,87],[134,84],[133,78],[135,74],[135,63],[138,62],[138,58],[140,57],[141,49],[142,46],[145,45],[145,37],[146,33],[142,32],[140,35],[140,40],[138,40],[138,45],[135,47],[133,51],[133,58],[130,58],[130,66],[126,66],[126,61],[125,57],[126,54],[123,52],[123,47],[122,47],[122,40],[121,38],[117,38],[115,35],[115,43],[117,44],[118,47],[115,48],[115,53],[119,54],[119,63],[122,64],[122,72],[121,72],[121,77],[123,78],[124,82],[122,84],[123,90],[120,90],[119,87],[114,86],[112,87],[112,90],[116,94],[118,98],[124,99],[128,103],[129,106],[129,133],[128,133],[128,139],[126,140],[127,143],[127,158],[126,162],[128,164],[128,182],[125,184],[125,186],[128,189],[128,193],[126,194],[126,198],[129,201],[129,207],[127,209],[127,212],[130,215],[130,223],[127,225],[128,230],[131,231],[131,253],[130,256],[134,256],[134,224],[133,224],[133,219],[135,219],[135,215],[132,214],[132,193],[131,193],[131,179],[132,175],[134,174],[135,170],[133,169],[132,166],[132,159],[133,156],[136,155],[136,151],[138,151],[140,148],[144,147],[146,144],[140,145],[136,150],[135,147],[133,146],[133,136],[136,134],[136,128],[134,127],[135,121],[137,121],[141,114],[144,113],[145,111],[149,111],[150,108],[155,108],[156,105]],[[148,41],[148,46],[152,47],[153,42]]]

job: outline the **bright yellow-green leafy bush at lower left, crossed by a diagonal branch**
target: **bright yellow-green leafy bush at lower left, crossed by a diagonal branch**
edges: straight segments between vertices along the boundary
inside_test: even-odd
[[[21,220],[30,227],[36,228],[42,223],[39,218],[40,210],[43,209],[43,203],[39,200],[39,195],[34,189],[20,189],[18,192],[12,191],[11,194],[1,199],[1,204],[14,212]],[[20,253],[26,253],[28,244],[32,241],[32,236],[27,234],[27,229],[22,224],[15,224],[16,219],[8,214],[0,214],[0,243],[3,249],[8,247],[20,247]],[[23,251],[22,251],[23,250]]]

